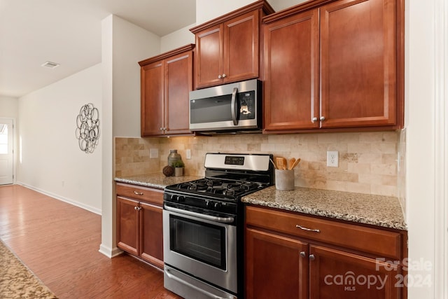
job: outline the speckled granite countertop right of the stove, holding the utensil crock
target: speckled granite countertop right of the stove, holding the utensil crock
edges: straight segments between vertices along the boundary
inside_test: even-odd
[[[295,187],[275,186],[241,198],[242,202],[344,221],[407,230],[397,197]]]

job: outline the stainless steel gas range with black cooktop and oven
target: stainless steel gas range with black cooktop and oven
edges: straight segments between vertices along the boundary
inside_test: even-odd
[[[243,298],[240,199],[274,183],[271,158],[207,153],[204,179],[165,188],[165,288],[183,298]]]

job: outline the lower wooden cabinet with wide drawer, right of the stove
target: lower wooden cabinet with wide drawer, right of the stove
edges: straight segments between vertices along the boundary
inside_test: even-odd
[[[405,232],[359,228],[312,216],[246,207],[246,298],[405,298],[400,286]],[[365,242],[365,235],[375,239],[375,232],[384,241]],[[359,235],[358,242],[364,244],[353,249],[353,235]],[[343,244],[344,239],[346,246],[335,246]],[[369,252],[360,251],[363,246]]]

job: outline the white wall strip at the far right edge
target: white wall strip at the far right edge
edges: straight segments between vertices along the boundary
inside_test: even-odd
[[[448,84],[444,0],[405,1],[409,299],[448,298],[447,125],[440,111]],[[443,21],[444,20],[444,21]],[[444,23],[445,22],[445,23]],[[446,109],[446,108],[445,108]],[[445,130],[445,131],[443,131]],[[437,146],[436,146],[437,145]],[[420,263],[421,262],[421,263]]]

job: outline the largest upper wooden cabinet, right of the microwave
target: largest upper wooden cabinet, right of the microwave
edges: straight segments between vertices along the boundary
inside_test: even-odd
[[[402,127],[403,10],[316,0],[265,17],[265,132]]]

